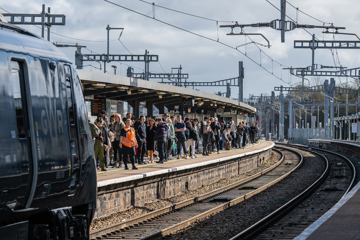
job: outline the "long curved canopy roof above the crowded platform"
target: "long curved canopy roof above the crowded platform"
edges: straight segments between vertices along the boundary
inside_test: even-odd
[[[253,113],[256,108],[231,98],[225,98],[209,92],[172,86],[159,82],[145,81],[139,78],[125,77],[109,73],[77,69],[84,87],[84,96],[104,95],[108,99],[147,101],[152,103],[182,105],[182,99],[194,98],[195,109],[225,111],[239,110],[240,113]],[[218,89],[214,88],[214,91]],[[159,97],[159,95],[161,95]]]

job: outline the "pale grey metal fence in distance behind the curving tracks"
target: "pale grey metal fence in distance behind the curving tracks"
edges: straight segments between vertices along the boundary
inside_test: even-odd
[[[293,128],[292,129],[292,143],[309,145],[307,139],[332,139],[332,132],[325,128]]]

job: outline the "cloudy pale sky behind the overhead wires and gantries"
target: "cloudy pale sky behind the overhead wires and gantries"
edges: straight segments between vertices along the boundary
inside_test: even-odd
[[[358,40],[355,36],[323,34],[321,28],[315,28],[307,29],[308,32],[303,29],[285,32],[285,43],[282,43],[278,30],[244,28],[246,33],[264,35],[270,41],[271,47],[269,49],[257,44],[247,44],[254,41],[266,45],[267,42],[261,36],[250,36],[251,40],[245,36],[227,36],[226,33],[230,33],[231,28],[219,28],[219,25],[233,24],[232,21],[237,21],[239,24],[252,24],[280,19],[279,10],[270,4],[272,3],[280,8],[280,0],[269,0],[270,3],[266,0],[158,0],[154,2],[158,5],[154,8],[151,4],[153,1],[109,1],[123,8],[104,0],[46,0],[43,2],[1,0],[0,7],[2,9],[0,11],[1,13],[7,11],[10,13],[38,14],[41,12],[41,4],[45,3],[46,9],[51,7],[51,14],[66,15],[66,26],[53,26],[51,28],[51,41],[86,45],[87,49],[82,50],[83,54],[107,52],[106,27],[108,24],[113,28],[124,28],[120,37],[121,42],[118,40],[121,30],[110,31],[109,38],[113,40],[110,41],[111,54],[142,55],[147,49],[149,54],[159,55],[158,63],[150,63],[150,72],[171,73],[171,68],[178,68],[181,65],[182,73],[189,74],[187,81],[212,82],[237,77],[239,61],[243,61],[244,98],[247,98],[249,94],[270,94],[275,86],[290,86],[301,80],[297,77],[290,77],[288,70],[281,70],[284,66],[306,67],[311,65],[311,50],[294,49],[294,40],[311,40],[312,34],[315,34],[319,40]],[[333,23],[337,27],[346,27],[346,30],[339,30],[339,32],[356,33],[360,36],[359,7],[360,2],[350,0],[344,0],[341,4],[335,0],[291,0],[286,6],[288,15],[286,20],[291,21],[292,19],[299,24],[316,26],[322,26],[323,22],[326,23],[325,26],[329,26],[328,23]],[[311,17],[297,12],[296,8]],[[23,25],[22,27],[41,35],[41,30],[37,27],[30,25]],[[234,33],[240,31],[239,27],[234,28]],[[219,42],[217,42],[218,39]],[[236,49],[240,45],[244,46]],[[62,50],[69,59],[75,62],[75,48],[63,48]],[[335,50],[332,52],[329,49],[317,49],[315,51],[315,63],[356,68],[360,64],[359,51],[360,49],[339,49],[337,52]],[[84,65],[87,64],[99,67],[96,62],[84,62]],[[116,65],[117,74],[121,75],[126,75],[126,69],[129,65],[134,68],[136,73],[144,71],[143,62],[112,62],[108,64],[107,70],[109,73],[113,73],[113,69],[109,68],[109,65]],[[84,69],[100,71],[90,66]],[[177,70],[173,70],[173,72],[177,72]],[[157,80],[152,79],[150,81]],[[339,79],[336,81],[339,82]],[[341,78],[341,81],[346,82],[346,79]],[[226,87],[197,87],[197,89],[211,93],[226,91]],[[238,98],[238,87],[231,87],[231,97]]]

